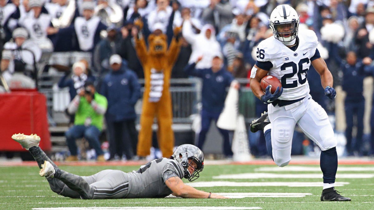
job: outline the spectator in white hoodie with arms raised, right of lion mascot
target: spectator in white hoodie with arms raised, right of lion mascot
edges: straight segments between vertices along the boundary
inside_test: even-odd
[[[189,17],[185,16],[184,18],[182,34],[192,48],[189,63],[204,55],[202,61],[197,63],[196,68],[210,68],[214,53],[221,51],[220,44],[215,39],[214,28],[207,24],[202,27],[200,34],[194,34]]]

